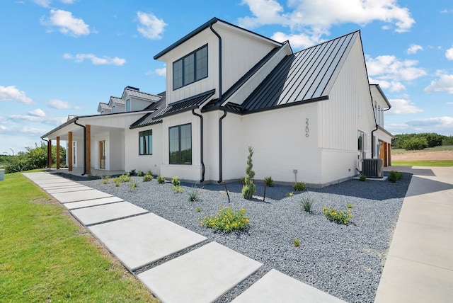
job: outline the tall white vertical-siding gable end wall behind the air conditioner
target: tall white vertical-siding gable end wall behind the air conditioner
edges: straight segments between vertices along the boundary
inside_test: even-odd
[[[328,184],[357,175],[357,131],[365,133],[366,156],[371,156],[374,130],[369,84],[360,40],[355,41],[336,79],[329,99],[319,106],[319,148],[322,150],[321,183]]]

